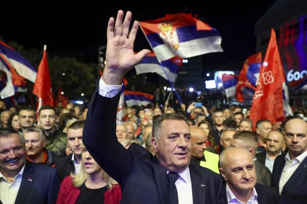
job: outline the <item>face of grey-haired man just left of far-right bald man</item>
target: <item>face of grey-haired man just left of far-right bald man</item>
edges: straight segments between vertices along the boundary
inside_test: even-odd
[[[283,135],[279,131],[270,131],[267,138],[268,152],[280,152],[283,143]]]

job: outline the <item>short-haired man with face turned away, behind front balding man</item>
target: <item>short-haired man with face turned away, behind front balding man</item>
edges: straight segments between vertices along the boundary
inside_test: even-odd
[[[256,150],[258,147],[257,135],[250,131],[237,132],[233,135],[231,146],[242,147],[247,149],[252,154],[254,159],[255,169],[257,174],[257,182],[259,184],[271,186],[272,173],[256,158]]]

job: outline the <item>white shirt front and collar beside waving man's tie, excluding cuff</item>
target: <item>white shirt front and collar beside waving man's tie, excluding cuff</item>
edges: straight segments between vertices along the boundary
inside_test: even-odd
[[[170,171],[167,170],[167,174],[169,172]],[[178,193],[178,203],[193,204],[192,182],[189,167],[178,173],[178,175],[179,177],[175,182]]]

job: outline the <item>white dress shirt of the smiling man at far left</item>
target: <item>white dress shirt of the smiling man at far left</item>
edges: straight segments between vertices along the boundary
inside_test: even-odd
[[[9,182],[4,175],[0,172],[0,200],[4,204],[14,204],[19,187],[22,183],[23,173],[25,170],[25,165],[19,171],[19,173],[14,177],[13,182]],[[30,178],[29,178],[30,179]]]

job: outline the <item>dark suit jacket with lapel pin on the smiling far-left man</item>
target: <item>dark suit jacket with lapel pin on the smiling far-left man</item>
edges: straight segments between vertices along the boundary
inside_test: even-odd
[[[15,204],[55,203],[59,185],[54,168],[27,161]]]

